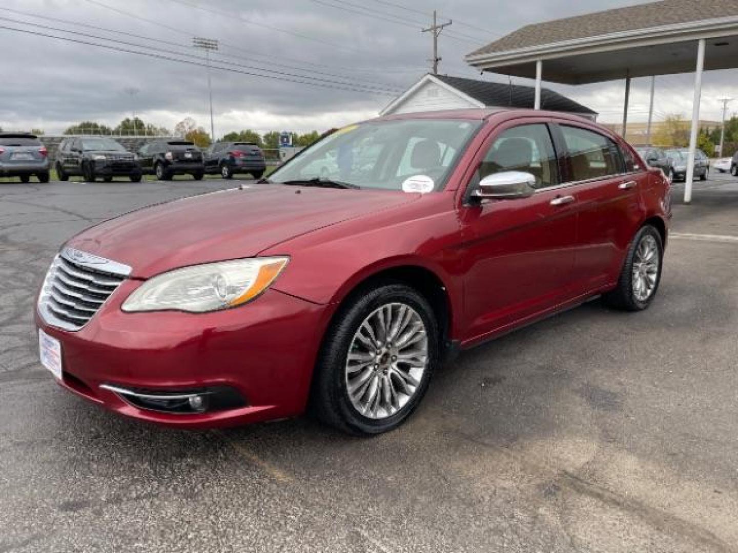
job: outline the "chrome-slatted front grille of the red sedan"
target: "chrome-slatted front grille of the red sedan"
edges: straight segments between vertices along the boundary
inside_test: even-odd
[[[80,330],[128,274],[127,265],[64,248],[46,274],[39,313],[55,327]]]

